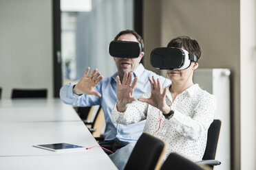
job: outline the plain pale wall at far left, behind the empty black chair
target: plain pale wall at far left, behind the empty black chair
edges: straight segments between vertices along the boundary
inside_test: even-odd
[[[0,87],[53,93],[52,0],[0,1]]]

